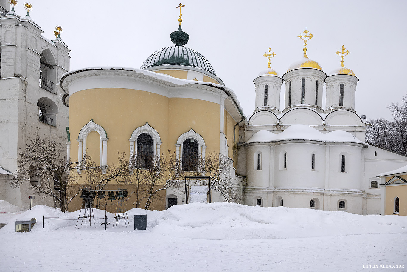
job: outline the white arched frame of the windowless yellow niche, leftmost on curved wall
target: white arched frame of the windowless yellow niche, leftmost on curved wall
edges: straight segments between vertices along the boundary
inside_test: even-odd
[[[81,161],[86,154],[86,138],[92,131],[96,131],[101,137],[99,165],[101,166],[101,168],[107,168],[107,140],[109,138],[107,138],[105,129],[96,124],[93,119],[90,119],[89,123],[83,126],[83,128],[79,132],[79,137],[77,139],[77,141],[79,142],[78,161]]]

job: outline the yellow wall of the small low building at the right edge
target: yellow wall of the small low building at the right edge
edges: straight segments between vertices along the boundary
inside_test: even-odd
[[[407,215],[407,184],[386,186],[385,215],[393,214],[394,199],[396,199],[396,197],[398,197],[400,201],[398,215]]]

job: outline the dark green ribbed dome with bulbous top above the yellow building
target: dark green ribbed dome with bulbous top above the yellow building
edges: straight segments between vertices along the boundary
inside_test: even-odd
[[[179,25],[177,31],[170,34],[170,37],[175,45],[164,47],[152,53],[143,62],[141,69],[161,65],[183,65],[202,69],[216,75],[212,65],[203,55],[184,46],[188,42],[189,35],[182,31],[181,25]]]

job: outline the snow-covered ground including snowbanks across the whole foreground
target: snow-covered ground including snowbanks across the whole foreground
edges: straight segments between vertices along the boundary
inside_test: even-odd
[[[132,219],[112,227],[107,213],[105,231],[103,210],[94,209],[92,226],[75,228],[79,211],[9,205],[0,202],[0,271],[407,271],[407,217],[396,215],[191,203],[147,211],[144,231]],[[42,228],[43,215],[59,219]],[[19,218],[37,223],[14,233]]]

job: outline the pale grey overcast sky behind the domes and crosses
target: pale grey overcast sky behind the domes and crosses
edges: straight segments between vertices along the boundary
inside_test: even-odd
[[[168,0],[31,0],[31,18],[72,50],[70,69],[89,66],[140,68],[154,51],[173,45],[179,2]],[[391,118],[386,108],[406,94],[407,1],[219,1],[182,2],[187,47],[204,55],[226,86],[236,93],[245,115],[254,111],[254,83],[267,68],[263,54],[277,55],[271,68],[282,76],[303,55],[298,35],[306,27],[314,37],[307,55],[326,74],[340,66],[335,52],[351,53],[345,66],[359,78],[355,109],[368,119]],[[22,0],[15,11],[26,14]],[[281,98],[284,98],[282,88]],[[325,88],[324,88],[325,105]],[[281,101],[283,105],[283,101]],[[282,107],[280,108],[282,110]]]

